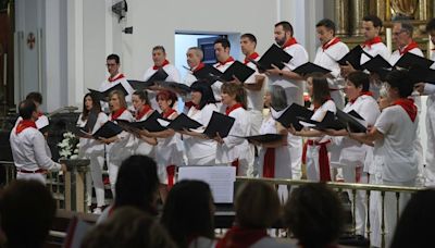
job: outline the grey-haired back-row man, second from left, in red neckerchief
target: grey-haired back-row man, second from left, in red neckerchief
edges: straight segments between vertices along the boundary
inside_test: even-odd
[[[163,46],[156,46],[152,48],[152,61],[153,65],[150,66],[144,74],[144,80],[148,80],[154,73],[159,70],[162,69],[166,74],[167,77],[164,79],[165,82],[181,82],[179,77],[179,72],[178,70],[170,63],[170,61],[166,59],[166,50],[164,49]],[[156,91],[160,90],[160,87],[151,87],[150,90],[148,90],[148,98],[151,102],[151,107],[154,110],[159,110],[159,104],[157,103],[156,100]]]

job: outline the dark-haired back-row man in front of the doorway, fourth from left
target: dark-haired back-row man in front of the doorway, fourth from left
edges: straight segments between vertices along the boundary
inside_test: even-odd
[[[224,73],[233,63],[234,58],[229,55],[231,44],[226,38],[219,38],[214,40],[214,54],[216,55],[217,63],[213,66]],[[215,82],[211,85],[211,89],[213,89],[214,99],[216,101],[221,101],[221,86],[222,82]]]

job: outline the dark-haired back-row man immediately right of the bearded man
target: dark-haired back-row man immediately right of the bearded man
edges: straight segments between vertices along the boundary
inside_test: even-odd
[[[335,106],[343,109],[345,99],[339,86],[344,85],[344,78],[340,76],[340,66],[337,61],[349,52],[349,48],[338,37],[335,37],[335,23],[333,21],[321,20],[315,25],[315,30],[322,46],[318,48],[314,64],[332,71],[332,78],[328,78],[332,89],[331,97],[334,99]]]

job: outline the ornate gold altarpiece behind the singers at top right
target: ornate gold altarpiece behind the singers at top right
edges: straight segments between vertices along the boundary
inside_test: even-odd
[[[425,25],[434,16],[433,0],[334,0],[334,21],[337,35],[349,47],[364,40],[361,22],[364,15],[375,14],[384,22],[382,36],[385,41],[386,30],[394,21],[407,20],[414,26],[414,39],[423,52],[428,51],[428,35]],[[393,45],[393,50],[396,49]]]

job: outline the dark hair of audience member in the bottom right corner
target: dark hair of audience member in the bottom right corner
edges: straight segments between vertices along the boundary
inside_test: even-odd
[[[396,225],[390,248],[432,247],[435,223],[435,190],[424,189],[412,195]]]

